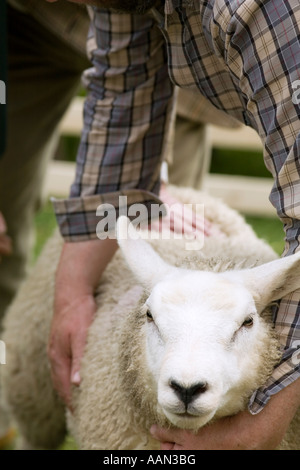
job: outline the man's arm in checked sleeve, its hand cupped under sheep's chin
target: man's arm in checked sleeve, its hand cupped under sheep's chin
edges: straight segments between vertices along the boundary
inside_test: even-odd
[[[214,45],[241,91],[245,121],[258,130],[264,143],[265,164],[274,177],[270,199],[283,222],[284,255],[289,255],[300,245],[300,108],[292,100],[292,84],[300,71],[300,6],[293,1],[249,0],[219,11],[216,3],[214,13],[210,25]],[[250,411],[222,419],[196,435],[156,430],[154,436],[163,448],[274,449],[300,404],[299,362],[292,359],[300,341],[299,319],[298,291],[279,304],[275,328],[282,362],[251,397]]]

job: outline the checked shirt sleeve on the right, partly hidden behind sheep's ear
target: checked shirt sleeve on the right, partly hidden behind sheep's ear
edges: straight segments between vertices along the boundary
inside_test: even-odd
[[[265,164],[274,177],[270,201],[284,225],[287,256],[300,249],[300,105],[293,99],[293,84],[300,78],[300,4],[277,0],[233,4],[238,8],[229,11],[222,55],[242,90],[245,120],[264,144]],[[224,11],[221,17],[224,21]],[[252,396],[252,413],[300,376],[300,291],[279,302],[274,318],[282,361]]]

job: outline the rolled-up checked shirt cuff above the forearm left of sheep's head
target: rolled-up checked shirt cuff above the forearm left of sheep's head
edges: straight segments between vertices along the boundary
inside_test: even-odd
[[[163,202],[150,191],[128,189],[68,199],[51,198],[66,242],[115,238],[115,222],[127,215],[137,223],[166,215]]]

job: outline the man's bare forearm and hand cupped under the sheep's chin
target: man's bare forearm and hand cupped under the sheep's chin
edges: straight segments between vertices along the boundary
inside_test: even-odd
[[[243,411],[221,418],[196,434],[154,425],[162,450],[275,450],[300,406],[300,380],[274,395],[257,415]]]

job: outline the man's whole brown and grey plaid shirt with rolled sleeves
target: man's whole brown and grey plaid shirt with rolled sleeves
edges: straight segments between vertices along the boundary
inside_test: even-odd
[[[56,201],[66,240],[96,237],[96,208],[157,202],[172,121],[174,85],[206,96],[257,130],[274,177],[270,200],[286,231],[285,255],[299,247],[300,3],[297,0],[166,0],[145,16],[90,8],[84,74],[89,90],[71,197]],[[171,80],[170,80],[171,79]],[[259,412],[299,377],[300,291],[275,312],[284,353],[251,398]]]

